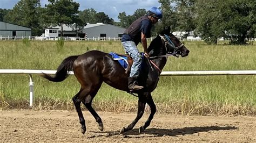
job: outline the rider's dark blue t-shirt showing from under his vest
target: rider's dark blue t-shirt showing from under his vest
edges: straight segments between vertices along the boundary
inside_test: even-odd
[[[135,44],[138,45],[139,42],[141,42],[141,34],[142,33],[145,34],[147,38],[149,38],[150,35],[151,35],[151,27],[152,27],[151,22],[149,20],[144,19],[144,20],[142,20],[142,22],[140,22],[139,27],[140,27],[139,28],[140,32],[138,32],[139,35],[136,35],[134,37],[134,39],[132,39],[129,34],[124,34],[121,41],[122,42],[124,42],[124,41],[134,41]],[[140,39],[138,39],[138,38],[140,38]]]

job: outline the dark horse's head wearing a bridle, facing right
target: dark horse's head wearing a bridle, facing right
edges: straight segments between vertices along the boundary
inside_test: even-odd
[[[167,54],[175,53],[174,56],[181,57],[187,56],[190,52],[180,40],[170,33],[170,26],[166,26],[164,30],[160,33],[159,37],[165,42],[165,49]]]

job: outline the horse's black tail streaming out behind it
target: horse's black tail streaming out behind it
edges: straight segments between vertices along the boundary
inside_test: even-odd
[[[69,56],[60,63],[57,72],[54,77],[49,74],[43,73],[43,77],[53,82],[64,81],[70,74],[70,71],[73,71],[73,63],[77,59],[78,55]]]

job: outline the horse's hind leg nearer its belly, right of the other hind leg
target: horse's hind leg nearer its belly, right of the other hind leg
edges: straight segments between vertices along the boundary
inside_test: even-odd
[[[100,87],[100,86],[99,86]],[[103,123],[102,119],[99,117],[97,112],[92,108],[92,99],[96,96],[99,88],[97,88],[95,91],[93,91],[90,95],[87,95],[86,98],[82,101],[85,107],[91,112],[92,116],[96,119],[98,125],[98,128],[100,131],[103,131]]]

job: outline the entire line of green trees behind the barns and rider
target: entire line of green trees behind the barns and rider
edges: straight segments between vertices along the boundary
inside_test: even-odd
[[[48,0],[41,6],[39,0],[21,0],[14,8],[0,9],[0,21],[32,28],[32,35],[41,35],[44,28],[70,25],[77,34],[86,23],[106,23],[128,27],[145,15],[145,9],[137,9],[133,15],[121,12],[119,22],[95,9],[79,11],[79,3],[72,0]],[[172,31],[194,31],[205,41],[217,44],[217,39],[230,39],[231,44],[246,44],[246,38],[255,37],[255,0],[159,0],[163,11],[162,22],[154,26],[157,34],[163,26]],[[62,30],[61,30],[62,34]]]

